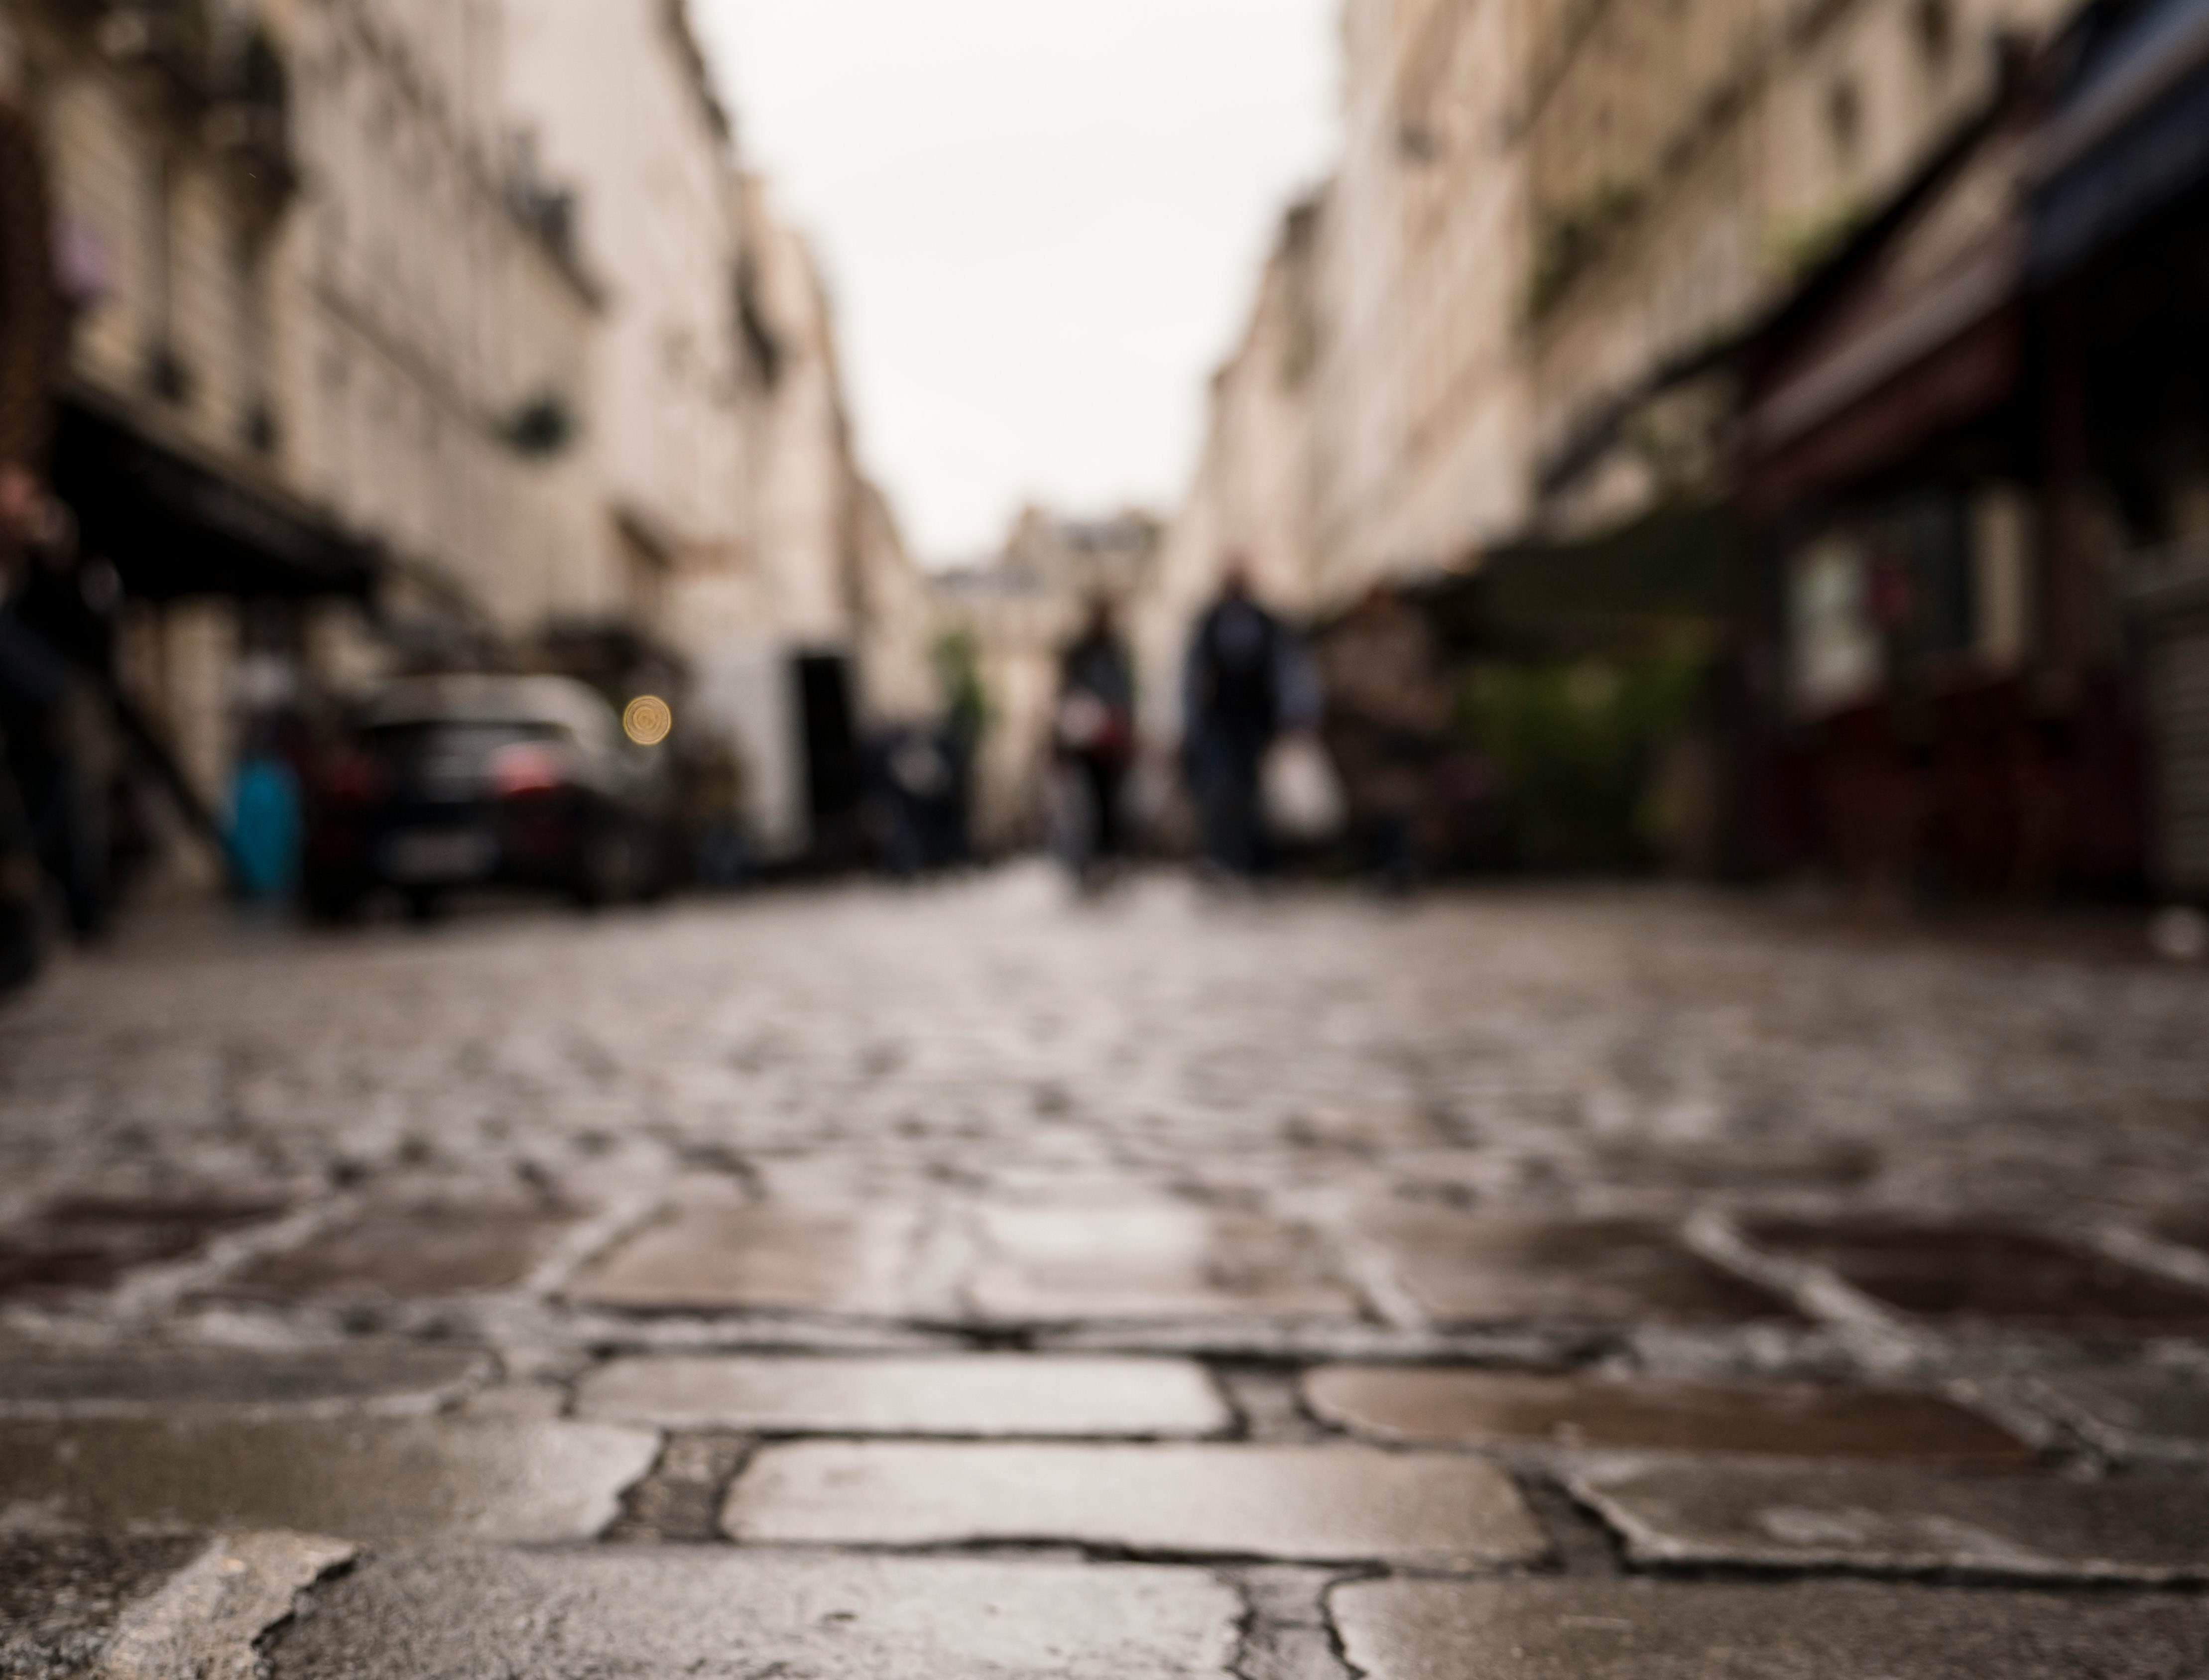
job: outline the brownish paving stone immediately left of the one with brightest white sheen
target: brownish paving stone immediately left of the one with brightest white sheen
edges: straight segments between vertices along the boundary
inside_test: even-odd
[[[568,1298],[638,1311],[895,1316],[915,1225],[915,1214],[897,1205],[678,1208],[590,1267]]]

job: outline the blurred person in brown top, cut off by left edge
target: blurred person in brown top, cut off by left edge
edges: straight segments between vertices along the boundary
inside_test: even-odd
[[[0,600],[49,523],[46,442],[62,349],[51,210],[38,135],[0,64]],[[64,684],[66,687],[66,684]],[[38,843],[15,768],[55,702],[29,631],[0,638],[0,989],[38,971]]]

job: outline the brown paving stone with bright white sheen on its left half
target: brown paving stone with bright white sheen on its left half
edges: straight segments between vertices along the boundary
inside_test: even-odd
[[[1347,1318],[1356,1296],[1317,1245],[1255,1214],[1182,1203],[985,1208],[972,1283],[994,1318]]]

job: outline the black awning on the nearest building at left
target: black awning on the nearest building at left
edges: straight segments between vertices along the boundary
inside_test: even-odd
[[[323,514],[148,437],[119,408],[62,400],[53,486],[86,552],[144,600],[369,596],[378,556]]]

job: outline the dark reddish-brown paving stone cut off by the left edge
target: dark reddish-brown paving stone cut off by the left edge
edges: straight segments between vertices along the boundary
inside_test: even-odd
[[[113,1289],[141,1265],[199,1254],[223,1232],[283,1214],[245,1192],[68,1194],[0,1230],[0,1300],[53,1300]]]

